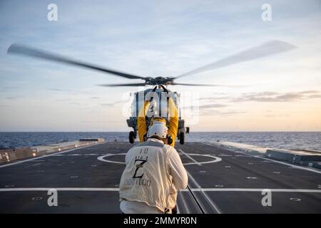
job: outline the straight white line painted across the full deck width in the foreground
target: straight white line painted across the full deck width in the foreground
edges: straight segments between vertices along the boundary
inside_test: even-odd
[[[29,192],[29,191],[75,191],[75,192],[118,192],[118,187],[5,187],[0,188],[0,192]],[[282,189],[282,188],[191,188],[192,192],[262,192],[263,190],[271,192],[297,192],[297,193],[321,193],[321,190],[311,189]],[[180,190],[180,192],[189,192],[188,189]],[[180,197],[183,195],[180,194]],[[185,200],[184,200],[185,201]],[[183,202],[183,200],[182,200]],[[188,209],[188,208],[186,208]]]

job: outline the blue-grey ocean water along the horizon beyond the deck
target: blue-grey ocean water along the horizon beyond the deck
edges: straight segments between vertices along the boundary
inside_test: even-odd
[[[31,147],[80,138],[106,138],[108,142],[128,142],[128,133],[49,132],[0,133],[0,148]],[[198,132],[186,135],[186,142],[240,142],[287,150],[321,150],[321,132]]]

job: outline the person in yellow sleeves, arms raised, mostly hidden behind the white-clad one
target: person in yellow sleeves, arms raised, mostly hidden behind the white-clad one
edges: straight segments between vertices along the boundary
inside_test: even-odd
[[[155,92],[155,88],[153,90],[153,92]],[[141,110],[139,110],[138,113],[138,136],[139,136],[139,141],[140,142],[145,142],[147,139],[147,131],[148,131],[148,127],[150,127],[151,125],[155,124],[155,123],[163,123],[164,125],[167,125],[167,121],[162,118],[162,117],[153,117],[151,118],[151,124],[149,126],[146,125],[146,114],[148,112],[148,108],[151,105],[151,99],[147,99],[144,102],[143,107],[141,108]],[[173,146],[175,145],[175,139],[178,133],[178,110],[177,107],[174,103],[173,98],[168,98],[168,109],[170,113],[170,117],[169,117],[169,123],[168,123],[168,144]]]

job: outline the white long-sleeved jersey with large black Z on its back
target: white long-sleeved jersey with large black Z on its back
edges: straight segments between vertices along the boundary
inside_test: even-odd
[[[178,152],[162,140],[150,138],[126,154],[126,168],[119,185],[120,200],[126,200],[127,204],[143,202],[166,212],[175,207],[177,190],[185,189],[187,182],[188,175]]]

